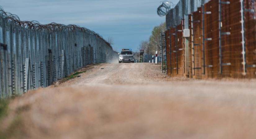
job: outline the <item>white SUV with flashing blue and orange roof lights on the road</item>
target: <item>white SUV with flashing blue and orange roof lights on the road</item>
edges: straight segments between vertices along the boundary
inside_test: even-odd
[[[132,49],[123,49],[119,54],[119,63],[122,62],[132,62],[134,63],[134,54]]]

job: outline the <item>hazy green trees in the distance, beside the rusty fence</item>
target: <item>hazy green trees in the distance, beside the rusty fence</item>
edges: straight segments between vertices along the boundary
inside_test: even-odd
[[[155,51],[160,51],[160,32],[165,32],[165,30],[165,23],[155,26],[149,40],[141,41],[140,49],[144,49],[147,54],[155,54]]]

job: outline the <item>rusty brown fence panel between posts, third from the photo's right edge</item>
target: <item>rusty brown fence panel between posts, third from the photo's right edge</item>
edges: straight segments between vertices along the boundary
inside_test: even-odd
[[[218,0],[211,0],[202,8],[204,78],[219,76],[219,18]]]

